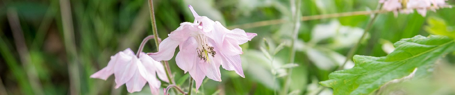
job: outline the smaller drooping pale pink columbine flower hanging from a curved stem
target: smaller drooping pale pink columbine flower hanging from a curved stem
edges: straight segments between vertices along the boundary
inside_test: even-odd
[[[153,60],[144,52],[137,58],[130,48],[111,56],[107,66],[90,77],[106,80],[112,74],[115,76],[115,88],[126,83],[126,89],[130,93],[141,91],[148,82],[152,94],[158,95],[161,81],[157,79],[157,75],[162,81],[169,82],[160,62]]]

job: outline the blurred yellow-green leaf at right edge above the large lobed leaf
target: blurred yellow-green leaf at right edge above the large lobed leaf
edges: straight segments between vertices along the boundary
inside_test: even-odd
[[[431,17],[427,21],[429,25],[425,27],[425,30],[433,35],[444,35],[451,38],[455,38],[455,30],[453,27],[448,26],[444,19]]]

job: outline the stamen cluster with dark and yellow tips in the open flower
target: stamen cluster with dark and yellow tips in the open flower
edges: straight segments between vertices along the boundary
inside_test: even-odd
[[[213,46],[208,46],[207,44],[207,36],[204,36],[202,34],[199,34],[196,36],[196,41],[199,44],[198,47],[196,48],[197,50],[197,57],[199,59],[204,60],[204,62],[207,62],[207,60],[210,62],[209,55],[212,55],[212,57],[215,57],[215,52],[213,49]]]

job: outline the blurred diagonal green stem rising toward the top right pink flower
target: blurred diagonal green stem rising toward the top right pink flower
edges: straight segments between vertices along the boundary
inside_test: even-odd
[[[380,9],[381,6],[382,6],[382,4],[379,4],[376,9]],[[357,51],[357,49],[359,48],[359,45],[362,42],[362,40],[365,38],[365,36],[367,36],[367,33],[369,32],[369,30],[373,26],[374,20],[377,17],[378,17],[378,13],[375,13],[373,15],[373,18],[370,18],[370,20],[368,22],[368,25],[367,25],[367,27],[365,27],[364,33],[362,34],[362,37],[360,37],[359,41],[357,41],[357,44],[355,44],[351,49],[349,49],[348,55],[346,55],[346,60],[344,60],[343,64],[341,66],[339,66],[337,70],[342,70],[344,68],[344,65],[346,65],[346,63],[348,63],[348,61],[354,55],[355,51]]]

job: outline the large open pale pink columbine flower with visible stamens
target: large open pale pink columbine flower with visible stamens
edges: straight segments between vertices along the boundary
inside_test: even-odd
[[[191,5],[188,7],[195,18],[194,23],[181,23],[180,27],[162,41],[158,52],[148,55],[157,61],[169,60],[174,56],[175,48],[179,46],[177,66],[182,68],[184,73],[189,72],[194,78],[196,90],[201,86],[205,76],[221,81],[220,65],[245,77],[239,55],[243,52],[239,45],[251,41],[257,34],[245,33],[242,29],[229,30],[218,21],[199,16]]]

